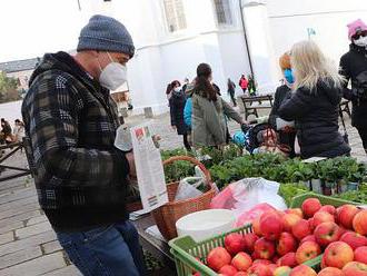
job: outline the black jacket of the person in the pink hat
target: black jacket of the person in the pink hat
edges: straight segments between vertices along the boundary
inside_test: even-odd
[[[354,92],[358,89],[357,77],[367,72],[367,50],[364,47],[350,45],[350,50],[340,59],[340,69],[341,75],[347,79],[344,97],[353,102],[351,125],[357,128],[367,128],[367,99],[361,99]],[[351,80],[351,89],[347,88],[349,80]]]

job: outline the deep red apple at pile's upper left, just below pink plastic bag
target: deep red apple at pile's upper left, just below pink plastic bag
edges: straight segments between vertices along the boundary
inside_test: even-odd
[[[277,213],[264,214],[260,218],[260,230],[265,238],[276,240],[282,231],[281,217]]]

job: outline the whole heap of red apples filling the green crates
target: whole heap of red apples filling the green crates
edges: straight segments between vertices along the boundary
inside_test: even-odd
[[[367,210],[308,198],[300,208],[265,213],[251,226],[252,233],[228,234],[204,263],[222,276],[367,276]],[[309,265],[320,254],[316,273]]]

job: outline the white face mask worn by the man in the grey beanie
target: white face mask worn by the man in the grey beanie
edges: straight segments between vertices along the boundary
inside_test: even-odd
[[[116,90],[127,81],[127,68],[113,61],[109,52],[107,55],[111,62],[101,71],[99,83],[107,89]]]

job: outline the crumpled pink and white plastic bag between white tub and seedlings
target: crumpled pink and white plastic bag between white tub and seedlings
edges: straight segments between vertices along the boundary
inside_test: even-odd
[[[237,217],[237,224],[241,224],[257,211],[268,210],[268,207],[286,209],[287,205],[278,195],[278,183],[264,178],[245,178],[220,191],[211,200],[210,208],[230,209]]]

